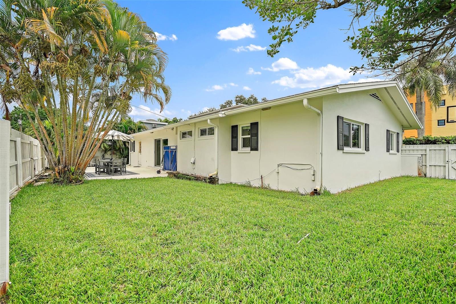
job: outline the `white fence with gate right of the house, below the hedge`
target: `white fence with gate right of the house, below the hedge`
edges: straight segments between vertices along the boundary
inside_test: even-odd
[[[403,145],[402,157],[416,157],[418,175],[456,179],[456,145]]]

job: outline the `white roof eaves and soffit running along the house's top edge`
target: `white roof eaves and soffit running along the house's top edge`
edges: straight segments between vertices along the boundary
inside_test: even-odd
[[[254,105],[242,105],[239,107],[233,106],[221,110],[212,111],[209,113],[204,113],[202,115],[196,115],[190,119],[187,119],[186,121],[180,121],[167,126],[162,126],[154,129],[153,131],[155,132],[160,131],[162,129],[168,129],[181,125],[188,125],[198,121],[204,121],[207,119],[234,115],[242,112],[253,111],[277,105],[284,105],[291,102],[303,100],[305,98],[312,99],[325,95],[342,94],[365,90],[376,90],[378,92],[379,95],[377,95],[377,97],[379,97],[379,99],[382,102],[389,105],[390,109],[393,111],[396,118],[401,122],[402,126],[404,127],[404,130],[421,129],[423,127],[420,121],[418,120],[418,117],[416,116],[415,112],[410,108],[409,101],[407,100],[404,91],[402,90],[397,81],[374,81],[355,84],[337,84],[326,88],[315,89],[299,94],[293,94],[273,100],[260,102]],[[325,114],[323,113],[323,115]],[[152,130],[135,133],[133,135],[135,136],[150,131]]]

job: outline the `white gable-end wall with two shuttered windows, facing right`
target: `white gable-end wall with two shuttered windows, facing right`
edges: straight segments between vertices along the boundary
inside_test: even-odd
[[[386,152],[386,130],[400,135],[402,126],[388,105],[368,93],[336,94],[323,99],[323,186],[330,192],[401,175],[400,153]],[[360,153],[337,150],[337,115],[363,124]],[[364,150],[365,123],[369,124],[368,152]]]

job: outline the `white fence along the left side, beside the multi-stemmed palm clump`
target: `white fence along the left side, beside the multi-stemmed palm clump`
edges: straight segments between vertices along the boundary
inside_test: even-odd
[[[38,140],[13,129],[10,131],[9,147],[10,194],[12,194],[47,167],[47,158]]]

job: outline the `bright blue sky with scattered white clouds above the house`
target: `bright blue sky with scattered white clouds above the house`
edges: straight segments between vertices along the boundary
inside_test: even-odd
[[[171,101],[162,113],[167,117],[185,119],[237,94],[274,99],[364,78],[348,72],[362,59],[343,42],[348,33],[341,29],[351,20],[344,9],[322,12],[294,42],[284,43],[280,53],[270,58],[265,49],[254,51],[271,43],[270,24],[241,1],[119,4],[139,13],[163,39],[158,43],[169,57],[165,76],[172,89]],[[132,103],[159,110],[157,104],[144,103],[140,97],[134,97]],[[135,120],[157,118],[138,108],[130,115]]]

